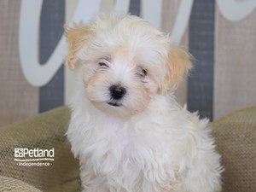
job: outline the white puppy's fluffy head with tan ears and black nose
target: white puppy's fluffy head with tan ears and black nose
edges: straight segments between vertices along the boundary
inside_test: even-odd
[[[90,26],[66,28],[67,65],[83,73],[96,108],[129,116],[168,94],[191,67],[189,54],[137,16],[100,15]]]

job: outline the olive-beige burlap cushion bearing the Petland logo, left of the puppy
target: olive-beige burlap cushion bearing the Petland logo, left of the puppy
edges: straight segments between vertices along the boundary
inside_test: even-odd
[[[70,112],[66,107],[0,128],[0,175],[13,177],[44,192],[79,191],[79,162],[64,136]],[[15,148],[55,148],[51,166],[18,166]],[[2,189],[0,183],[0,189]]]

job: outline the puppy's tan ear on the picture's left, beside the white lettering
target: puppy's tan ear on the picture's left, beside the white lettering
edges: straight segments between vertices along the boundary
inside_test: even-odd
[[[68,42],[68,52],[67,52],[67,66],[69,68],[74,68],[76,62],[78,61],[77,52],[85,44],[88,44],[91,35],[94,33],[90,26],[85,26],[82,24],[74,25],[73,27],[65,27],[65,36]]]

